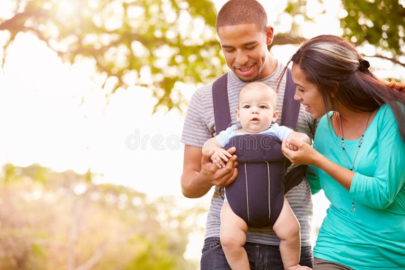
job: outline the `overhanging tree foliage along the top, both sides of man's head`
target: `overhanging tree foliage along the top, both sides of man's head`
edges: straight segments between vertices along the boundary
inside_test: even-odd
[[[135,84],[150,88],[155,110],[180,109],[180,82],[207,83],[226,70],[209,0],[9,1],[14,11],[0,18],[0,30],[9,33],[5,50],[18,33],[33,33],[65,61],[91,59],[109,93]],[[307,4],[289,0],[285,12],[311,20]],[[344,36],[376,46],[380,50],[374,56],[405,67],[400,60],[405,53],[403,1],[342,0],[342,9]],[[291,31],[275,35],[272,45],[300,43],[300,26],[293,20]]]

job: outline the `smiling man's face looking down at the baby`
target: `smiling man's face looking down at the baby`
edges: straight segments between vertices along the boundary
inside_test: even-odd
[[[228,67],[242,81],[254,81],[270,75],[270,63],[266,63],[273,38],[273,28],[266,33],[257,31],[256,24],[222,26],[218,36]]]

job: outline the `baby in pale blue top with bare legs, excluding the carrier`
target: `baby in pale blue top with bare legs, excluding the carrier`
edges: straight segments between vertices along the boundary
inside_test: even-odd
[[[235,109],[239,125],[232,125],[221,131],[216,137],[209,139],[203,146],[203,151],[214,150],[211,160],[219,168],[225,167],[231,155],[223,149],[233,136],[241,134],[272,134],[281,141],[287,138],[297,138],[310,144],[310,139],[304,133],[295,132],[286,126],[275,123],[279,111],[276,110],[277,94],[273,88],[263,82],[250,82],[239,92],[239,108]],[[294,146],[287,146],[294,149]],[[225,191],[226,192],[226,191]],[[284,198],[281,212],[273,225],[273,231],[280,239],[280,254],[285,269],[310,269],[299,265],[300,260],[300,224],[288,201]],[[236,215],[225,195],[221,209],[220,240],[225,257],[232,269],[250,269],[248,255],[244,248],[248,224]]]

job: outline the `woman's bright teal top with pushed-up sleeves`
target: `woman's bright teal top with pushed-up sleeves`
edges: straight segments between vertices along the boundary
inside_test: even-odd
[[[341,138],[328,124],[331,114],[319,121],[313,147],[346,168]],[[359,140],[345,142],[350,168]],[[353,171],[347,191],[325,171],[308,168],[312,194],[323,189],[331,202],[314,257],[357,270],[405,269],[405,145],[388,105],[378,110],[367,128]]]

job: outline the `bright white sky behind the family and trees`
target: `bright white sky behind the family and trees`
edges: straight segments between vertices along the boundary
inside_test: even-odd
[[[274,25],[276,16],[272,15],[284,9],[285,1],[259,2]],[[317,1],[308,2],[315,24],[307,24],[302,34],[339,34],[335,18],[340,2],[328,1],[325,14],[313,4]],[[9,10],[7,3],[2,1],[0,11]],[[217,8],[223,3],[216,1]],[[288,16],[279,19],[292,20]],[[6,36],[0,32],[0,44]],[[285,63],[295,50],[293,46],[275,47],[272,53]],[[39,163],[79,173],[90,168],[99,183],[130,186],[150,197],[182,196],[184,114],[171,111],[151,116],[154,100],[145,88],[117,91],[107,104],[100,85],[92,63],[64,64],[45,43],[31,34],[19,34],[7,52],[4,69],[0,68],[0,165]],[[194,91],[189,87],[183,94],[190,98]],[[206,195],[185,200],[187,204],[206,203],[208,209],[210,199]],[[328,203],[319,195],[314,205],[314,223],[319,225]],[[205,220],[198,223],[204,226]],[[191,235],[185,257],[199,257],[202,241],[202,236]]]

